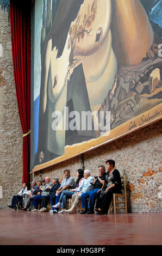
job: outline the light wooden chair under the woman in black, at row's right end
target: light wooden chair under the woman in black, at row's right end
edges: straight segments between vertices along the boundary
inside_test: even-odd
[[[113,200],[111,201],[110,204],[110,214],[111,214],[111,210],[114,210],[114,214],[119,214],[119,210],[120,209],[125,209],[126,214],[127,214],[127,191],[126,191],[126,175],[123,175],[123,177],[121,177],[121,179],[123,180],[122,182],[122,190],[123,193],[122,194],[113,194]],[[123,200],[119,200],[119,198],[123,198]],[[124,204],[124,206],[120,206],[121,204]]]

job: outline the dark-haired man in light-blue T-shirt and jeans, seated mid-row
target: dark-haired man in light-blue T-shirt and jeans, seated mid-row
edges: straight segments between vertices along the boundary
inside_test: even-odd
[[[72,178],[70,176],[70,170],[64,170],[64,176],[65,179],[63,180],[63,182],[61,183],[61,186],[58,188],[57,192],[56,192],[56,198],[55,198],[55,205],[52,206],[53,208],[53,212],[57,213],[58,209],[60,208],[60,206],[62,206],[62,202],[63,202],[63,196],[64,194],[62,194],[62,192],[64,190],[69,190],[70,188],[74,188],[75,185],[75,180],[74,178]],[[65,209],[62,208],[61,211],[64,211]]]

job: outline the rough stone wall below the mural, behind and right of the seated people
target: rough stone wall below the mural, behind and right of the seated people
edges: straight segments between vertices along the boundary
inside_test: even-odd
[[[107,159],[114,159],[121,175],[126,174],[129,212],[161,212],[161,132],[160,120],[84,154],[84,167],[92,175],[97,174],[98,165],[105,164]],[[35,172],[33,177],[39,180],[48,175],[63,179],[64,169],[69,169],[76,178],[76,170],[82,167],[83,161],[78,156]]]

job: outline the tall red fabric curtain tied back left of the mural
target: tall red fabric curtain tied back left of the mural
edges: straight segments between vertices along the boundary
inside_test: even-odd
[[[30,1],[10,0],[13,68],[23,134],[30,130]],[[29,184],[30,133],[23,137],[23,179]]]

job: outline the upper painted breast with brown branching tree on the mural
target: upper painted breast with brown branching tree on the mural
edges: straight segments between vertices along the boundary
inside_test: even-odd
[[[76,40],[74,55],[87,56],[94,54],[108,35],[111,20],[110,0],[86,0],[80,7],[78,20],[73,22],[72,29],[78,22],[80,34]]]

